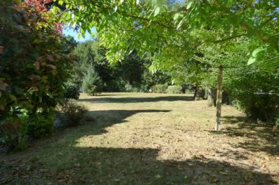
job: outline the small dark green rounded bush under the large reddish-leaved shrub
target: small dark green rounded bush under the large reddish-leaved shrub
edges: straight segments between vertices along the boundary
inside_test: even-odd
[[[54,129],[54,116],[52,114],[44,115],[37,113],[29,118],[27,124],[27,135],[33,138],[43,138],[50,136]]]

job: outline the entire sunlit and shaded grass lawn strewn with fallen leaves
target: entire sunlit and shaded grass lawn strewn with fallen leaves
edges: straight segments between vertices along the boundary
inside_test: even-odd
[[[190,95],[82,94],[94,120],[1,156],[0,184],[277,184],[278,130]],[[2,178],[1,178],[2,177]]]

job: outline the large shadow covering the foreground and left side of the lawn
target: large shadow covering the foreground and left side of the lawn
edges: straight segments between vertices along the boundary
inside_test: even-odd
[[[90,111],[98,120],[54,140],[27,161],[0,165],[0,184],[276,184],[251,166],[195,157],[160,160],[159,148],[79,147],[84,136],[103,134],[136,113],[168,110]],[[147,116],[147,115],[146,115]],[[234,135],[232,135],[234,136]]]

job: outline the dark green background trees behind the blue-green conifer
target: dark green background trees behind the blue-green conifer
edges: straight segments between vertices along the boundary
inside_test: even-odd
[[[87,70],[93,67],[103,81],[103,91],[148,92],[158,83],[168,83],[170,77],[162,72],[149,72],[151,61],[140,58],[135,51],[125,54],[123,60],[110,65],[105,58],[107,49],[98,40],[82,42],[74,49],[77,58],[71,83],[82,85]]]

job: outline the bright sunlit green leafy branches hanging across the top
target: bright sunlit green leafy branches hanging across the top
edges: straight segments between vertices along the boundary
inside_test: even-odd
[[[172,48],[192,51],[199,43],[219,45],[243,37],[258,40],[269,51],[279,51],[278,1],[58,2],[66,6],[66,10],[60,10],[64,11],[61,21],[75,26],[81,35],[92,27],[96,28],[98,38],[109,49],[107,59],[111,63],[133,49],[142,56],[149,52],[153,58],[170,57],[165,52]],[[53,10],[59,13],[59,8]],[[212,34],[195,38],[193,35],[197,31]],[[181,46],[180,40],[188,42]],[[258,47],[251,48],[251,51]],[[250,59],[249,63],[251,61],[255,60]]]

